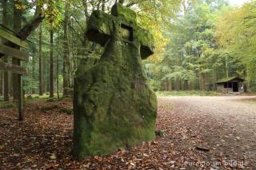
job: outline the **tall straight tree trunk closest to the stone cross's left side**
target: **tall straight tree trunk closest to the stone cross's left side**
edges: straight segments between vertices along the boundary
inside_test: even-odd
[[[69,39],[68,39],[68,23],[69,23],[69,11],[68,5],[66,4],[65,18],[64,18],[64,53],[63,53],[63,96],[69,94],[70,77],[69,77]]]

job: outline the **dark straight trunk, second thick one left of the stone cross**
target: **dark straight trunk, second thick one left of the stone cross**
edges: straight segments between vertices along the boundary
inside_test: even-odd
[[[54,97],[54,30],[50,30],[50,97]]]

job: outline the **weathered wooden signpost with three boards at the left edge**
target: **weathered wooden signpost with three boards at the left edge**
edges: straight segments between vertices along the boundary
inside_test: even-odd
[[[28,48],[28,43],[22,41],[21,39],[17,38],[14,34],[11,34],[10,32],[6,31],[5,29],[2,29],[0,27],[0,38],[4,38],[15,45],[18,45],[23,48]],[[14,49],[7,45],[0,45],[0,53],[12,57],[16,57],[19,60],[22,61],[29,61],[29,54],[24,53],[18,49]],[[0,57],[1,58],[1,57]],[[22,75],[28,74],[28,69],[23,68],[21,65],[14,65],[9,63],[0,62],[0,70],[4,71],[10,71],[12,73],[18,74],[18,113],[19,113],[19,120],[23,120],[23,87],[22,87]]]

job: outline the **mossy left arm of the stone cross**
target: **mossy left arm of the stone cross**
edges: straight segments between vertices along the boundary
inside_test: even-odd
[[[87,24],[86,38],[92,42],[104,46],[110,39],[113,31],[113,16],[100,10],[95,10],[89,18]]]

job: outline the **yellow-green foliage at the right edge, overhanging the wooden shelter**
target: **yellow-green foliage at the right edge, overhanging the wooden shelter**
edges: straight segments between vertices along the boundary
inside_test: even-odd
[[[218,45],[230,60],[238,61],[237,73],[247,81],[256,80],[255,6],[256,2],[248,2],[240,8],[223,8],[216,29]]]

